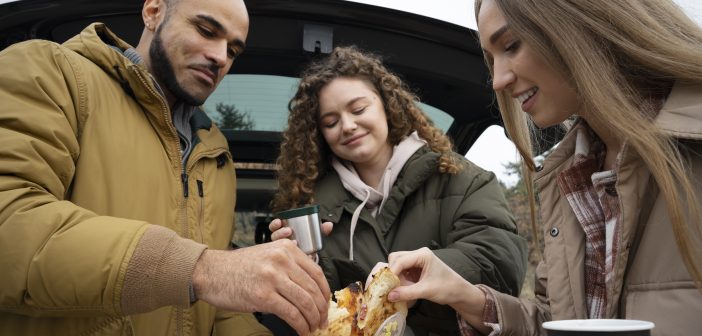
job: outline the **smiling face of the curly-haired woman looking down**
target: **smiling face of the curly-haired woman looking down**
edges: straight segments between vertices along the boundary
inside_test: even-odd
[[[380,96],[368,82],[336,78],[319,92],[319,129],[332,152],[358,165],[380,164],[392,156],[388,121]]]

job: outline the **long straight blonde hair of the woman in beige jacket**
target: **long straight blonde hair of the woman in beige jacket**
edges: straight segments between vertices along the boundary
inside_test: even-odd
[[[677,141],[654,124],[657,110],[649,103],[664,98],[676,81],[702,82],[702,29],[670,0],[491,1],[512,32],[569,79],[588,121],[622,134],[639,153],[666,201],[683,261],[702,290],[699,246],[689,235],[700,235],[695,172],[688,171]],[[475,2],[476,20],[481,3]],[[487,55],[486,62],[492,73]],[[526,114],[506,92],[497,93],[497,102],[531,181],[535,163]],[[534,191],[527,185],[534,223]]]

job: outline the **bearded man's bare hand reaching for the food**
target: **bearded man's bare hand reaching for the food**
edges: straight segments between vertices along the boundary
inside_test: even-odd
[[[234,251],[205,250],[195,264],[196,296],[237,312],[275,314],[300,335],[327,323],[331,292],[321,268],[283,239]]]

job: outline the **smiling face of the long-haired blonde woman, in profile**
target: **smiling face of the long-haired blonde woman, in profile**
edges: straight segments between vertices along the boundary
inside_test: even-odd
[[[483,52],[492,62],[493,89],[517,100],[537,126],[554,126],[580,113],[575,90],[514,34],[492,0],[480,7],[478,31]]]

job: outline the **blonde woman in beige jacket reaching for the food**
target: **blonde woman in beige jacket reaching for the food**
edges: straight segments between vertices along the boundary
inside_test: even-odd
[[[390,255],[391,268],[413,270],[405,280],[416,282],[390,298],[448,304],[464,335],[538,335],[544,321],[576,318],[698,334],[702,30],[669,0],[475,8],[505,126],[538,191],[536,299],[474,286],[424,250]],[[567,135],[536,167],[528,124],[567,120]]]

